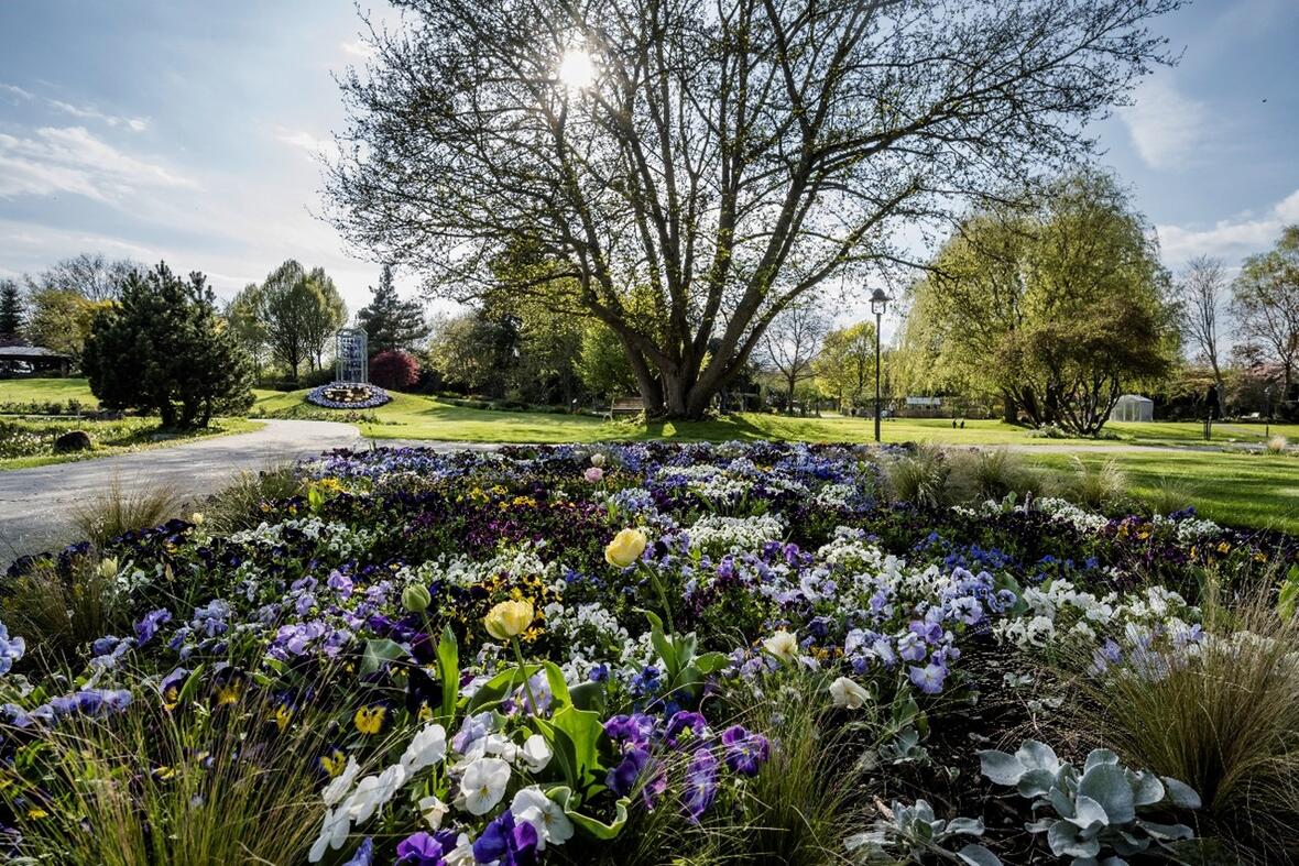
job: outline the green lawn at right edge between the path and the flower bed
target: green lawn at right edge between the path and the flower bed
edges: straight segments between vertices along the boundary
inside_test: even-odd
[[[1091,466],[1113,461],[1128,475],[1134,496],[1154,496],[1161,486],[1173,483],[1212,521],[1299,534],[1299,457],[1133,449],[1079,458]],[[1072,457],[1030,453],[1029,460],[1065,470]]]

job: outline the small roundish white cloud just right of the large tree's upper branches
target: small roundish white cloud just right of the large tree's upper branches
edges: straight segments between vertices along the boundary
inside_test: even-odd
[[[1167,77],[1146,79],[1135,103],[1120,109],[1118,117],[1141,158],[1161,170],[1192,165],[1211,130],[1204,103],[1181,93]]]

